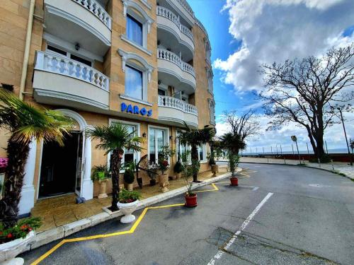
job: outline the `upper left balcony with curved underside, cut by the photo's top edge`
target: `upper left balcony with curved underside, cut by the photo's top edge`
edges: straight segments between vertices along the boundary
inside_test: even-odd
[[[111,45],[112,18],[98,0],[45,0],[45,33],[102,56]]]

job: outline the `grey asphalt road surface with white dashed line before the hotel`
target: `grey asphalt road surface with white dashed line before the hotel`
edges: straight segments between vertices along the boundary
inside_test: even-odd
[[[196,208],[177,196],[145,210],[132,233],[124,234],[132,224],[109,220],[54,251],[61,240],[21,257],[25,264],[353,264],[354,182],[311,168],[241,167],[239,187],[228,179],[202,187]]]

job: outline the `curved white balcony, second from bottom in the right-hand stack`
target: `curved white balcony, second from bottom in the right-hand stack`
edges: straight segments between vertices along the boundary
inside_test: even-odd
[[[157,49],[159,80],[190,95],[195,92],[196,81],[193,66],[185,63],[177,54]]]

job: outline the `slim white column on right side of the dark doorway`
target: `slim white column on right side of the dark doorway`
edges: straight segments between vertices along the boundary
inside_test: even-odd
[[[91,179],[91,138],[86,137],[84,148],[84,175],[82,176],[81,197],[93,199],[93,182]]]

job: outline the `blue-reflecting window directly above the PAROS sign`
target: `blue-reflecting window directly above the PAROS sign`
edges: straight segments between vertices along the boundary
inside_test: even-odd
[[[139,100],[143,99],[142,71],[131,66],[125,69],[125,95]]]

